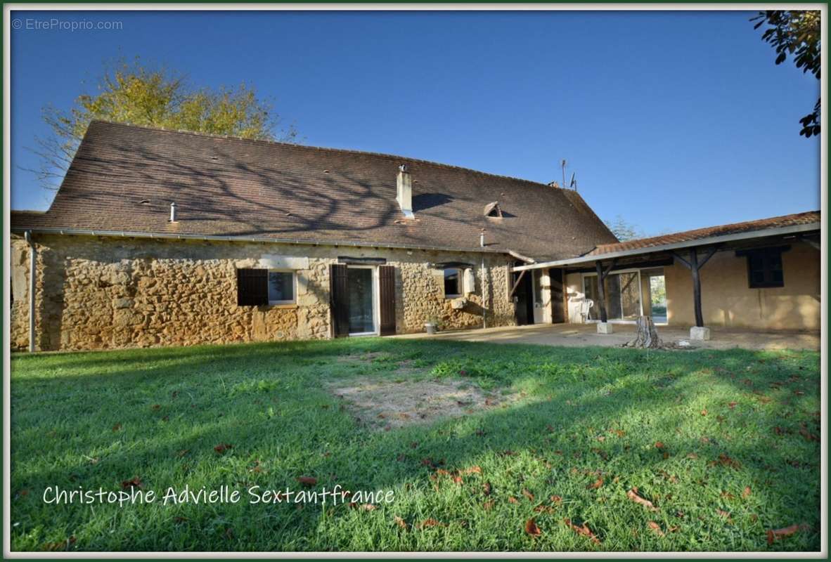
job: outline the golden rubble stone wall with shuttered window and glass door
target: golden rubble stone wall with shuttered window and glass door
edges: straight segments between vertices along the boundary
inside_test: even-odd
[[[147,238],[35,236],[36,349],[111,349],[330,335],[329,264],[383,257],[396,266],[399,333],[513,325],[509,258],[480,254]],[[12,237],[12,349],[28,345],[28,246]],[[440,261],[477,264],[475,291],[445,299]],[[297,272],[293,305],[238,306],[236,269],[286,263]],[[484,287],[485,305],[482,303]],[[461,306],[460,308],[457,308]]]

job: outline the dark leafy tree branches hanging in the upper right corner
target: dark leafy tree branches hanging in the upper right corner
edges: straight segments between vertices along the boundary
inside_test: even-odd
[[[759,20],[754,29],[763,25],[769,27],[762,33],[762,41],[769,42],[776,50],[776,64],[781,64],[794,57],[794,64],[803,72],[810,72],[819,80],[821,61],[820,14],[818,10],[768,10],[759,12],[750,21]],[[820,100],[814,105],[814,111],[799,120],[802,130],[799,134],[806,138],[819,134]]]

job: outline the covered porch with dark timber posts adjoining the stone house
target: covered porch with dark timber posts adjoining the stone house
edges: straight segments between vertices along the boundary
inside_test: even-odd
[[[651,316],[692,340],[729,329],[819,330],[819,218],[799,213],[517,262],[510,287],[517,324],[593,324],[611,335]]]

